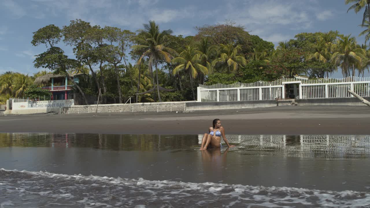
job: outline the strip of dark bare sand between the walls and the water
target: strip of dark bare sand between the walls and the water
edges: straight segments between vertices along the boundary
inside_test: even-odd
[[[94,115],[8,115],[0,117],[0,132],[202,134],[214,118],[219,118],[226,134],[370,134],[367,106],[279,106]]]

